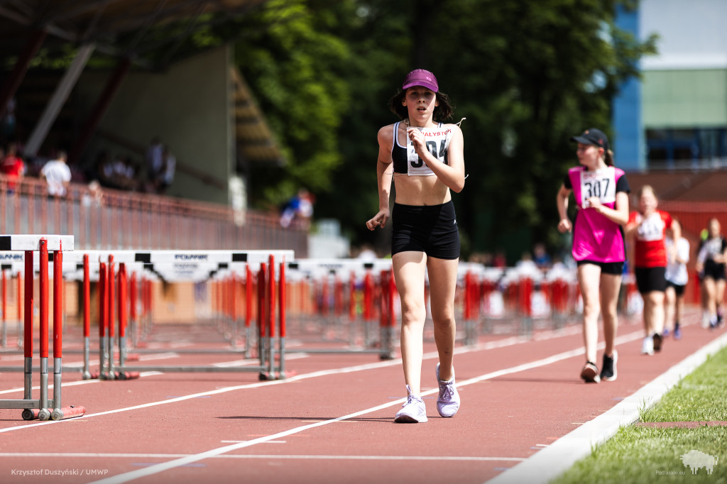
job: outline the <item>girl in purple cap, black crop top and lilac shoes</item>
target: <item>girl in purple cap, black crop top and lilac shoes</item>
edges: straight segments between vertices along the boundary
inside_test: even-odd
[[[394,422],[427,422],[421,394],[423,331],[426,318],[425,274],[429,277],[434,338],[439,353],[435,374],[437,411],[443,417],[459,409],[454,386],[454,291],[459,263],[459,230],[450,190],[465,186],[462,131],[450,118],[449,97],[439,91],[428,70],[412,70],[401,91],[389,101],[403,121],[379,129],[379,211],[369,230],[393,222],[392,265],[401,298],[401,358],[407,399]],[[389,211],[391,181],[395,203]]]

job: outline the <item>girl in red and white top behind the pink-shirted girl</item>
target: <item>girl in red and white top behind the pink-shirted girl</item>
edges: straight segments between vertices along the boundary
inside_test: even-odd
[[[645,336],[641,344],[644,355],[653,355],[662,349],[664,331],[664,292],[667,290],[667,249],[664,243],[672,217],[657,210],[659,201],[651,185],[644,185],[638,193],[638,211],[629,216],[627,237],[635,239],[634,275],[636,287],[643,298],[643,326]]]

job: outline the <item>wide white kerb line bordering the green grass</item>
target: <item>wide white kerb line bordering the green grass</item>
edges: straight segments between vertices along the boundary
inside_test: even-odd
[[[521,464],[505,469],[505,472],[487,481],[487,484],[550,482],[591,453],[592,448],[613,437],[621,427],[636,422],[640,410],[653,406],[684,376],[691,374],[697,366],[704,363],[708,356],[726,346],[727,334],[723,334],[624,398],[604,414],[555,440]]]

